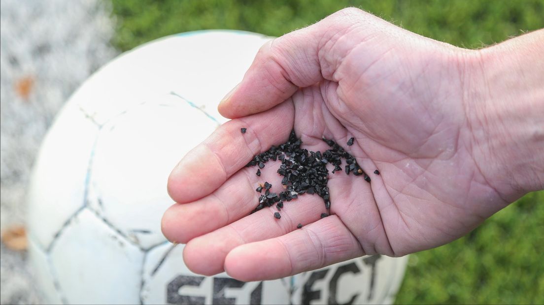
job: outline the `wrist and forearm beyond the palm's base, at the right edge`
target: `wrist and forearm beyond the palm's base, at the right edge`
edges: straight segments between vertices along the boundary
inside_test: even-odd
[[[472,154],[506,201],[544,189],[544,30],[478,50],[469,61]]]

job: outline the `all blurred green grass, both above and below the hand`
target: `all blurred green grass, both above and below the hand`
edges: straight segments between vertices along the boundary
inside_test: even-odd
[[[239,29],[280,36],[344,7],[408,30],[479,48],[544,27],[544,1],[113,1],[114,45],[128,50],[165,35]],[[540,16],[540,17],[539,17]],[[544,192],[483,225],[410,257],[397,303],[544,303]]]

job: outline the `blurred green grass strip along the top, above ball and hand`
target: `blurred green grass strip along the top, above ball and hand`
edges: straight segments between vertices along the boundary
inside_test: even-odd
[[[119,18],[114,44],[128,50],[158,37],[201,29],[239,29],[280,36],[350,6],[423,36],[467,48],[544,27],[542,0],[114,0],[114,15]]]

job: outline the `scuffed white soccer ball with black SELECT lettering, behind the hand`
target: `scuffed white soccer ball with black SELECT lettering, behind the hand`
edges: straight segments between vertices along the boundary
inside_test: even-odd
[[[180,158],[226,122],[217,103],[269,40],[195,31],[147,43],[90,77],[36,160],[29,252],[50,303],[390,303],[406,258],[362,257],[264,282],[193,274],[160,218]]]

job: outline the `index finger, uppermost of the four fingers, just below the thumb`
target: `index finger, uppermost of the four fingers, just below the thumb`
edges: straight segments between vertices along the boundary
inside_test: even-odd
[[[219,126],[172,170],[168,194],[178,203],[211,194],[255,155],[285,142],[293,129],[293,120],[293,103],[286,101],[269,111]]]

